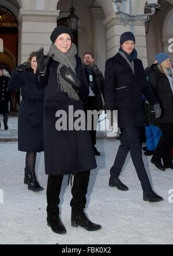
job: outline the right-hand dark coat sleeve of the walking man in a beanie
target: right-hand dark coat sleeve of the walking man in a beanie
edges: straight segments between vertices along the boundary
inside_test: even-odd
[[[159,103],[159,101],[156,98],[156,95],[153,91],[152,86],[147,82],[147,79],[146,79],[145,73],[144,73],[144,67],[142,65],[142,61],[141,61],[141,68],[142,68],[141,91],[142,91],[142,94],[144,94],[144,96],[146,97],[146,100],[148,100],[148,102],[153,106],[156,103]]]

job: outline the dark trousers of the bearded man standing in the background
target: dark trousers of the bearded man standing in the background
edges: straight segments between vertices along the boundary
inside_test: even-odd
[[[88,102],[85,105],[85,113],[87,110],[97,110],[97,97],[96,96],[89,96]],[[86,115],[87,116],[87,115]],[[98,116],[99,118],[99,116]],[[97,127],[93,126],[93,118],[92,118],[92,130],[89,131],[91,135],[92,145],[96,145],[96,129]]]

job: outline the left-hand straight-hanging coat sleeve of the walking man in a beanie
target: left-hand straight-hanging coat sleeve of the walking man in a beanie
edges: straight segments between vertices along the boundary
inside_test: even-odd
[[[114,110],[115,107],[115,70],[112,61],[108,59],[105,67],[104,102],[106,110]]]

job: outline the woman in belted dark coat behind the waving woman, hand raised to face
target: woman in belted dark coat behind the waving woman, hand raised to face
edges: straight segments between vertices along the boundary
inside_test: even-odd
[[[42,191],[36,180],[35,162],[37,152],[43,151],[43,99],[44,88],[39,87],[36,52],[27,63],[13,70],[8,88],[21,88],[22,101],[18,110],[18,150],[27,152],[24,184],[34,192]]]

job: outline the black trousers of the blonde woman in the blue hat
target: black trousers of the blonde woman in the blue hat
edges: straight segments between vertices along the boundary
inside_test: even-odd
[[[163,164],[172,163],[173,123],[161,123],[162,136],[155,149],[153,160],[163,159]]]

